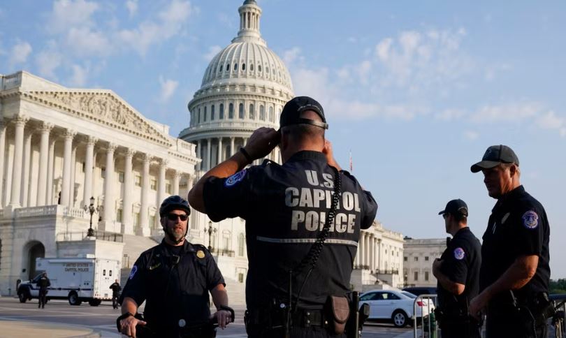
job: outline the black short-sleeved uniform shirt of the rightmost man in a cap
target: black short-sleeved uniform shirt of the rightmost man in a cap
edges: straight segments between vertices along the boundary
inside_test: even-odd
[[[493,284],[518,256],[539,256],[537,272],[516,291],[519,297],[549,291],[550,227],[544,207],[518,186],[502,196],[489,216],[481,246],[480,288]]]

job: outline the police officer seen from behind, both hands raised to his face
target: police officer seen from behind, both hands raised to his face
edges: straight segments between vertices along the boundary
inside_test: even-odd
[[[334,324],[343,314],[324,304],[344,309],[360,230],[372,225],[377,204],[333,158],[317,101],[293,98],[282,110],[280,126],[280,132],[254,131],[240,152],[195,184],[189,200],[213,221],[246,220],[249,337],[342,337]],[[264,161],[245,168],[277,144],[283,165]],[[337,174],[341,193],[333,195]],[[326,220],[333,217],[322,240]],[[334,303],[329,295],[342,298]]]

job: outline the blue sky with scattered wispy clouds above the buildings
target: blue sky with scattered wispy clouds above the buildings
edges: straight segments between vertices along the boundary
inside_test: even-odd
[[[481,237],[495,200],[470,165],[502,143],[546,207],[552,278],[566,277],[564,1],[258,2],[268,47],[295,94],[324,105],[338,161],[351,150],[386,228],[444,237],[437,212],[462,198]],[[113,89],[177,135],[241,3],[3,1],[0,73]]]

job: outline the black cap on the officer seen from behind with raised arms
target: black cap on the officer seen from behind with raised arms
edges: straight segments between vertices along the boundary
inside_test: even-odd
[[[300,113],[306,110],[316,112],[321,117],[322,122],[314,121],[313,119],[303,119],[300,117]],[[292,98],[291,101],[285,103],[283,111],[281,112],[279,124],[281,128],[284,126],[292,126],[293,124],[312,124],[313,126],[328,129],[322,105],[314,98],[310,98],[308,96],[297,96]]]

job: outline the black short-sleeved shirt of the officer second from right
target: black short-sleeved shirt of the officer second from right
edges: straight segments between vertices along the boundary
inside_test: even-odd
[[[465,310],[479,291],[479,267],[481,265],[481,244],[467,226],[458,230],[440,257],[440,272],[451,281],[464,284],[460,295],[449,293],[440,283],[437,286],[438,302],[447,311]],[[451,312],[452,315],[457,315]],[[464,314],[464,313],[461,313]]]

